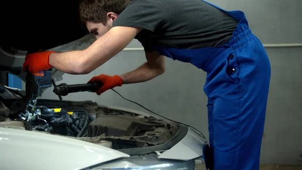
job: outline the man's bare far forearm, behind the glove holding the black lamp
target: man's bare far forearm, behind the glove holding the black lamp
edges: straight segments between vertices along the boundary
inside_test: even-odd
[[[123,84],[139,83],[153,79],[165,72],[165,56],[157,51],[145,52],[147,62],[137,69],[121,75]]]

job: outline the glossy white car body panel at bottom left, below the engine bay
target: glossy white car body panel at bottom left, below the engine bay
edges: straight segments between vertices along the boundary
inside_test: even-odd
[[[68,137],[0,128],[0,169],[74,170],[129,155]]]

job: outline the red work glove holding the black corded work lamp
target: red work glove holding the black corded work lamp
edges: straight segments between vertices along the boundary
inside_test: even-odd
[[[89,80],[89,82],[99,82],[99,81],[103,82],[104,85],[99,90],[96,91],[98,95],[101,95],[106,90],[112,89],[116,86],[122,86],[123,84],[123,80],[117,75],[108,76],[108,75],[101,74]]]

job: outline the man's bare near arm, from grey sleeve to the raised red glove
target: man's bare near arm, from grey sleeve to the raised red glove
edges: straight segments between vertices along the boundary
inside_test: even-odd
[[[49,64],[64,73],[88,74],[124,49],[140,28],[113,27],[85,50],[51,53]]]

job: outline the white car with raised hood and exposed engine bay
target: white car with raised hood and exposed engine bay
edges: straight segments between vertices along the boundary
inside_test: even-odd
[[[78,1],[28,3],[7,5],[8,26],[1,31],[0,73],[15,75],[26,86],[0,84],[0,169],[194,169],[196,162],[212,164],[207,139],[188,125],[90,100],[41,98],[63,73],[23,73],[26,54],[85,49],[95,37],[79,23]]]

